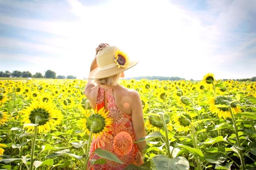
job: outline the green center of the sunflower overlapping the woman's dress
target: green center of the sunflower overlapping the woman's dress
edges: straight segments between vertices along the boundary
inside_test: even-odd
[[[104,127],[106,126],[105,123],[105,118],[102,117],[100,114],[92,114],[90,115],[89,119],[92,122],[95,122],[96,125],[93,129],[93,133],[100,133],[104,130]],[[89,123],[88,121],[86,122],[86,127],[91,130],[91,123]]]

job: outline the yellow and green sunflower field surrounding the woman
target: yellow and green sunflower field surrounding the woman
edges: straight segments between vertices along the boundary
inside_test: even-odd
[[[85,170],[88,164],[122,163],[100,148],[100,159],[88,162],[92,137],[111,121],[104,110],[90,107],[86,82],[0,80],[0,169]],[[208,73],[201,81],[119,83],[140,93],[147,132],[133,141],[147,141],[144,164],[126,170],[256,168],[256,82],[216,80]]]

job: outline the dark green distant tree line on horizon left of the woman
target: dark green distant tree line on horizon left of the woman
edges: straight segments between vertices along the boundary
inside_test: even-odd
[[[18,71],[14,70],[13,72],[9,72],[6,70],[5,72],[0,71],[0,77],[33,77],[33,78],[51,78],[51,79],[76,79],[76,76],[68,75],[67,77],[63,75],[56,76],[56,73],[52,70],[47,70],[45,75],[43,76],[42,73],[36,72],[35,75],[32,75],[29,71]]]

